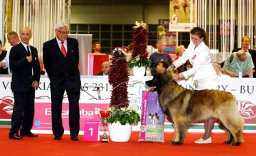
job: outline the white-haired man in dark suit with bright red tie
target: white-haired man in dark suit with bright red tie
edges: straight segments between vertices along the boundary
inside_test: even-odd
[[[64,91],[68,94],[70,139],[78,140],[80,72],[78,69],[78,40],[68,38],[66,23],[57,23],[56,38],[43,43],[43,63],[50,79],[52,128],[54,140],[61,140],[64,133],[61,119]]]

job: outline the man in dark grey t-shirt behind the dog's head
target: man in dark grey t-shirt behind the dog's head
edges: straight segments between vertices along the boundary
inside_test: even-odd
[[[156,43],[156,48],[157,52],[154,52],[149,56],[149,60],[151,61],[150,71],[152,76],[156,74],[156,66],[159,64],[160,61],[166,61],[169,63],[169,65],[171,65],[172,63],[171,56],[168,53],[164,52],[165,45],[163,40],[159,40]]]

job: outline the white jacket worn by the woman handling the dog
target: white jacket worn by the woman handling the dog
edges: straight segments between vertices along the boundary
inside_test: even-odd
[[[188,48],[183,55],[174,62],[176,68],[180,67],[189,60],[193,67],[182,72],[185,79],[194,74],[193,80],[205,79],[207,77],[217,77],[215,69],[210,62],[210,50],[202,41],[196,48],[193,42],[189,43]]]

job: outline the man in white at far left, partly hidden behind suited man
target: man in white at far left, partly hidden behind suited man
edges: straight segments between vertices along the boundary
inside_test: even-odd
[[[14,31],[11,31],[7,35],[7,40],[11,44],[11,46],[18,45],[20,42],[18,38],[18,34]],[[7,51],[6,57],[4,57],[4,60],[0,62],[0,67],[7,69],[8,68],[8,74],[11,74],[11,69],[9,67],[9,55],[10,55],[11,48]]]

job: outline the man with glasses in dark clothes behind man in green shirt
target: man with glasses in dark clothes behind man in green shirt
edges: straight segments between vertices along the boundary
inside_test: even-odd
[[[250,37],[245,35],[244,37],[242,37],[242,47],[241,48],[235,48],[232,50],[232,52],[238,52],[239,50],[243,50],[245,52],[249,52],[250,55],[252,56],[252,62],[254,65],[256,65],[256,50],[251,50],[250,48]],[[224,61],[225,62],[225,61]],[[221,67],[223,67],[224,62],[222,62],[220,64]],[[256,72],[255,69],[253,69],[253,77],[256,77]]]

